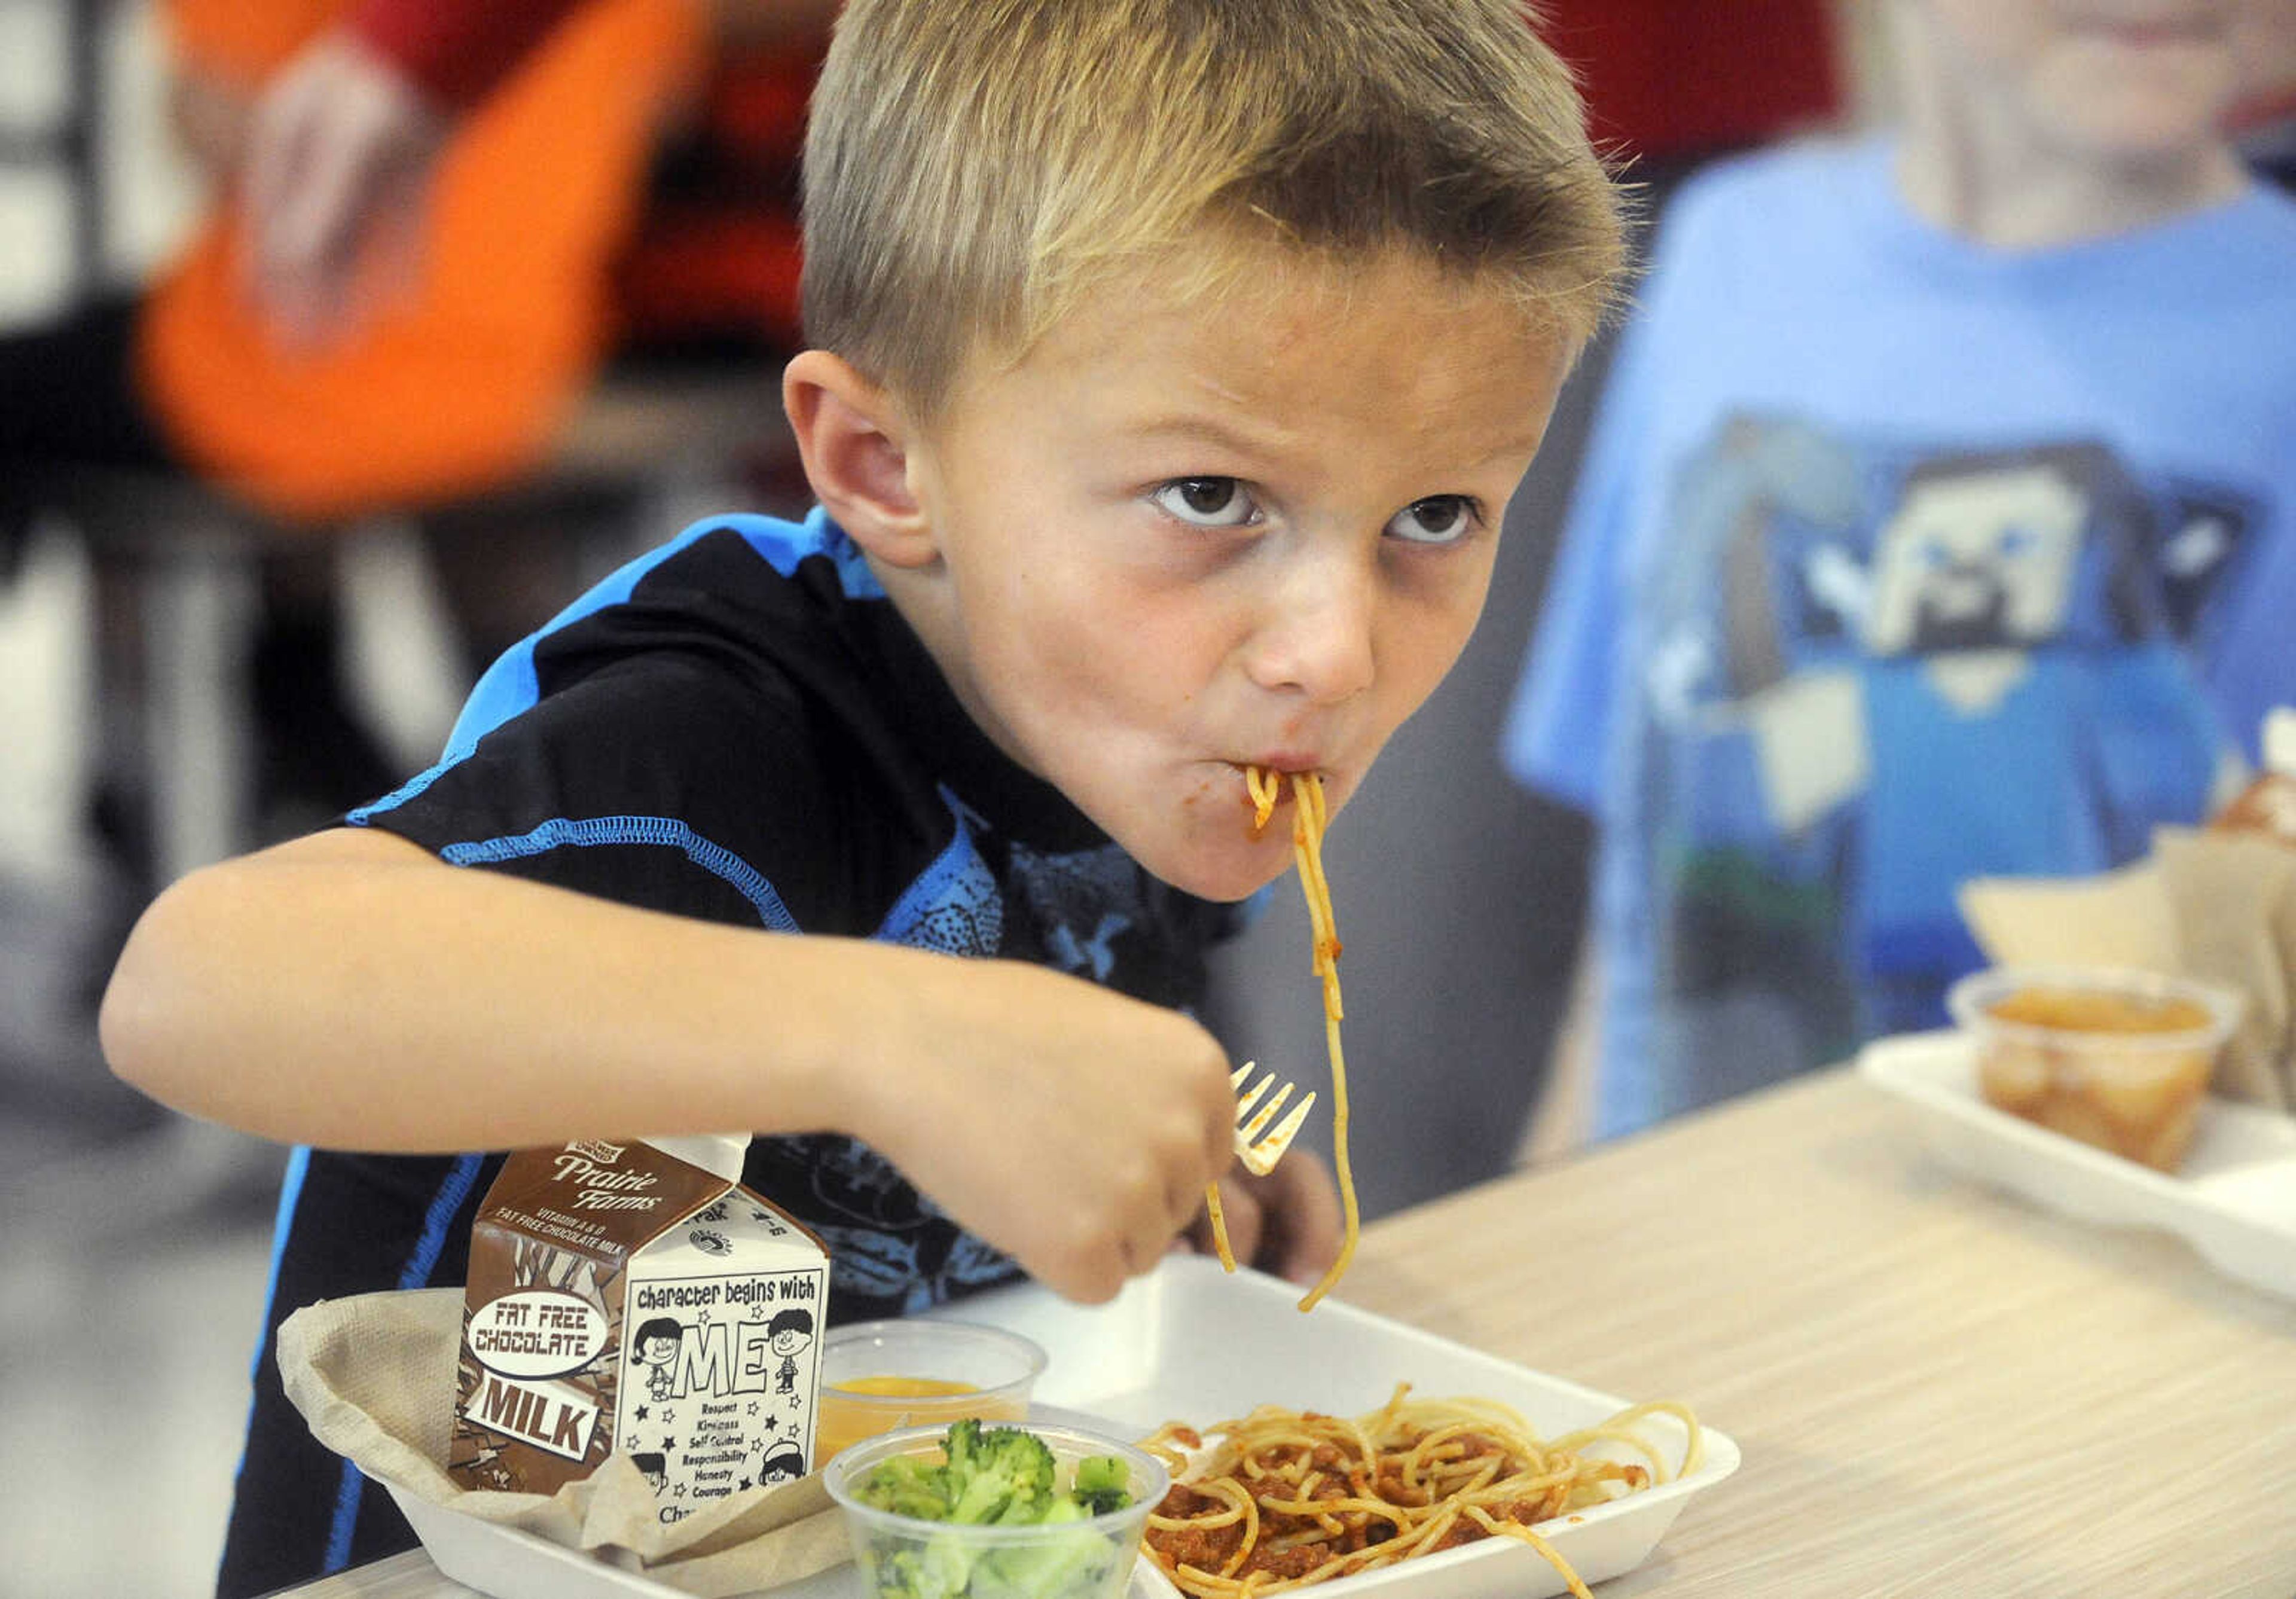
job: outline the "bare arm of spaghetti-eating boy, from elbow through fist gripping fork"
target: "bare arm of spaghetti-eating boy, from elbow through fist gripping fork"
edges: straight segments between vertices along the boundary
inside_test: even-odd
[[[103,1048],[168,1105],[326,1149],[847,1133],[1086,1303],[1164,1254],[1235,1119],[1212,1034],[1079,976],[631,910],[365,829],[168,889]]]

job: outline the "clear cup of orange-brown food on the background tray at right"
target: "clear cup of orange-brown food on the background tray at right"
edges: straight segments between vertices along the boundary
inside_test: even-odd
[[[1993,967],[1947,992],[1988,1105],[2156,1172],[2193,1144],[2241,1006],[2218,983],[2115,967]]]

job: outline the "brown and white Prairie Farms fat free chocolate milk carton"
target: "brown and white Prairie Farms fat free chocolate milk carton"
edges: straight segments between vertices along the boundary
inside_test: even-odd
[[[739,1185],[746,1146],[503,1162],[471,1229],[455,1482],[553,1493],[620,1450],[673,1523],[813,1468],[829,1254]]]

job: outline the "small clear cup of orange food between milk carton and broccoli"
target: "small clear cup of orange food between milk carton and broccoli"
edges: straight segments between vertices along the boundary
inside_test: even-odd
[[[1022,1422],[1045,1349],[1019,1332],[914,1316],[852,1321],[822,1344],[813,1461],[895,1427],[946,1427],[967,1415]]]

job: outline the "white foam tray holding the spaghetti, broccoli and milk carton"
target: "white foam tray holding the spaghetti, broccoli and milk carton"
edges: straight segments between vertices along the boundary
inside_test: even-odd
[[[1355,1415],[1387,1401],[1398,1381],[1424,1399],[1476,1395],[1518,1408],[1541,1436],[1559,1436],[1626,1408],[1626,1399],[1486,1355],[1325,1298],[1300,1314],[1300,1289],[1254,1270],[1176,1254],[1132,1280],[1107,1305],[1072,1305],[1033,1284],[951,1305],[946,1316],[987,1321],[1033,1337],[1052,1355],[1038,1381],[1047,1418],[1143,1436],[1169,1420],[1208,1427],[1256,1404]],[[1637,1395],[1637,1399],[1669,1395]],[[1683,1395],[1694,1401],[1697,1395]],[[1688,1431],[1671,1415],[1644,1422],[1681,1466]],[[1738,1445],[1704,1429],[1699,1470],[1609,1505],[1541,1525],[1541,1535],[1587,1583],[1642,1565],[1690,1496],[1738,1470]],[[1637,1459],[1621,1454],[1621,1459]],[[388,1486],[388,1484],[386,1484]],[[560,1548],[530,1532],[397,1496],[432,1562],[457,1583],[496,1599],[659,1599],[675,1590],[636,1571]],[[840,1565],[771,1590],[774,1599],[854,1599],[856,1569]],[[1483,1539],[1362,1576],[1318,1583],[1329,1599],[1548,1599],[1568,1592],[1538,1551],[1515,1539]],[[1173,1599],[1178,1590],[1141,1555],[1127,1599]]]

